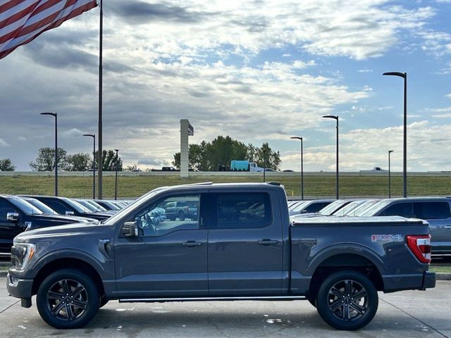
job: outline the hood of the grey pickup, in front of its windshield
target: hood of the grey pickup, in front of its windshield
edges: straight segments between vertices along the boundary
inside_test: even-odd
[[[112,231],[111,225],[103,225],[100,223],[72,223],[56,225],[54,227],[41,227],[39,229],[21,232],[14,238],[14,242],[35,242],[40,239],[49,240],[52,237],[83,236],[95,234],[96,232],[105,236],[105,234],[109,234]]]

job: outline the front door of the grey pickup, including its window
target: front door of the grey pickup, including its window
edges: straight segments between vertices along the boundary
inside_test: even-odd
[[[207,230],[202,225],[201,194],[166,195],[149,202],[128,221],[138,237],[118,235],[115,244],[119,297],[205,296],[208,294]],[[199,211],[182,218],[165,206],[190,202]],[[181,210],[180,210],[181,211]],[[199,213],[200,212],[200,213]]]

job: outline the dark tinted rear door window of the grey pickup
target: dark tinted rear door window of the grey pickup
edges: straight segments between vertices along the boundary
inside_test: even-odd
[[[266,227],[271,224],[268,194],[218,194],[218,228]]]

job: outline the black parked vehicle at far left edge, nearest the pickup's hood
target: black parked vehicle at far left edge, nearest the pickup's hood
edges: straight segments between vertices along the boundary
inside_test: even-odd
[[[77,218],[63,215],[45,215],[18,196],[0,195],[0,258],[10,258],[13,238],[20,232],[79,222]]]

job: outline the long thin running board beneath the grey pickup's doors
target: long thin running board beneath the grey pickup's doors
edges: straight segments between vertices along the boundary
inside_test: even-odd
[[[305,296],[234,296],[234,297],[185,297],[185,298],[135,298],[119,299],[119,303],[153,303],[163,301],[297,301]]]

